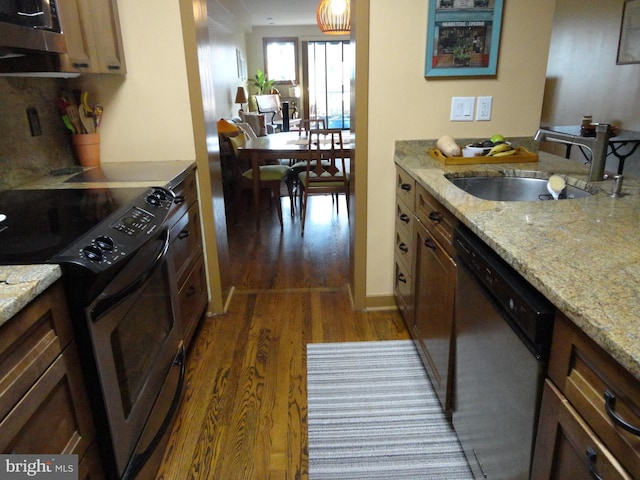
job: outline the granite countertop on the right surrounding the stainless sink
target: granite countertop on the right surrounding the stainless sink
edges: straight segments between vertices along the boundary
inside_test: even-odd
[[[588,167],[544,152],[536,163],[449,166],[428,156],[434,144],[398,141],[395,162],[640,379],[640,181],[625,177],[621,198],[609,196],[609,180],[586,198],[482,200],[444,174],[557,173],[584,186]]]

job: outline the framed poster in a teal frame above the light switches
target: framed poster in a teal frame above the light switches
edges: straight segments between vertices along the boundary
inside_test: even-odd
[[[425,77],[495,75],[502,2],[429,0]]]

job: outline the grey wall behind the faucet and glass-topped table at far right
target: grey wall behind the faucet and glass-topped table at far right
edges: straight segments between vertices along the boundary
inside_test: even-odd
[[[544,125],[576,125],[583,115],[593,115],[595,122],[640,131],[640,64],[616,65],[623,4],[623,0],[557,0]],[[564,154],[563,147],[543,148]],[[578,149],[573,149],[572,158],[584,161]],[[610,156],[607,170],[617,167]],[[625,161],[624,174],[640,177],[640,151]]]

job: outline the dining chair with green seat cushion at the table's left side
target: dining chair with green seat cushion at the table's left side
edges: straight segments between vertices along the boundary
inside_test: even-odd
[[[236,179],[236,203],[239,202],[239,195],[246,190],[253,191],[253,169],[248,160],[241,158],[238,155],[238,149],[244,147],[247,143],[247,139],[244,133],[239,132],[235,136],[227,136],[226,140],[231,146],[233,152],[233,167]],[[291,186],[290,177],[291,168],[286,165],[261,165],[260,166],[260,189],[268,190],[270,192],[269,202],[273,199],[276,200],[276,211],[278,213],[278,220],[280,221],[280,229],[284,227],[282,222],[282,203],[281,203],[281,186],[284,182],[289,192],[289,200],[291,202],[291,214],[293,216],[295,201],[293,198],[293,189]],[[259,212],[255,212],[256,215]]]

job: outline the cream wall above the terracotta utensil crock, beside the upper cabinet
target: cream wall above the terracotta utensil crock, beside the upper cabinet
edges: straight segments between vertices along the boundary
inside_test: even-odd
[[[70,81],[104,105],[101,159],[194,160],[184,42],[178,2],[118,2],[127,75]],[[150,13],[151,12],[151,13]]]

